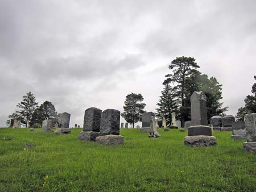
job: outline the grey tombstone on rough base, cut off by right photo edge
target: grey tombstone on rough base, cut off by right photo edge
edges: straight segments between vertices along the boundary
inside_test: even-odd
[[[243,149],[256,153],[256,114],[245,115],[245,130],[247,142],[243,143]]]

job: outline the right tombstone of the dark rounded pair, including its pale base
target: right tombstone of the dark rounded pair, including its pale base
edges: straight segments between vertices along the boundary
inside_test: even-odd
[[[102,145],[123,145],[123,136],[119,135],[120,111],[107,109],[101,114],[102,136],[96,137],[96,143]]]

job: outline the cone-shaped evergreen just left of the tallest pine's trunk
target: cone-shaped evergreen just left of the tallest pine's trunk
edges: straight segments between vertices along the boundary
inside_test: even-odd
[[[159,108],[156,108],[157,116],[166,118],[166,124],[170,127],[172,123],[171,114],[172,112],[177,112],[179,106],[179,99],[174,87],[171,87],[168,83],[164,84],[162,95],[156,105],[159,106]]]

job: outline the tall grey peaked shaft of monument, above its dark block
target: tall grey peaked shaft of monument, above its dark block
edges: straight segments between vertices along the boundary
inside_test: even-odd
[[[203,91],[191,95],[191,126],[208,126],[207,97]]]

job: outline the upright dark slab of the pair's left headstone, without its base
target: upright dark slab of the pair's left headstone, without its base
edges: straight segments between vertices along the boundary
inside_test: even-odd
[[[100,132],[101,127],[101,110],[100,108],[91,107],[84,111],[84,128],[83,131]]]

